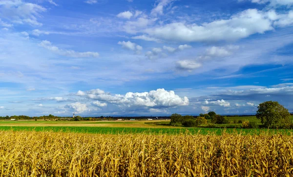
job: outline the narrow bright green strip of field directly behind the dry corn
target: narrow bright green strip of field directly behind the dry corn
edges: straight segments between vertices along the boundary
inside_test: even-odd
[[[293,134],[291,129],[241,129],[241,128],[131,128],[131,127],[84,127],[84,126],[0,126],[0,130],[12,131],[52,131],[52,132],[74,132],[91,134],[202,134],[222,135],[224,133],[237,133],[242,135],[269,134]]]

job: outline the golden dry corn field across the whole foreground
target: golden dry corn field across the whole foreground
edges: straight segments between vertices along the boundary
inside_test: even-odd
[[[293,136],[0,131],[0,177],[292,177]]]

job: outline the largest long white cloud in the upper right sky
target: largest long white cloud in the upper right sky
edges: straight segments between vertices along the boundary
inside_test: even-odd
[[[219,41],[237,40],[252,34],[273,30],[272,21],[266,12],[248,9],[231,16],[202,25],[173,22],[160,27],[148,28],[145,32],[156,38],[173,41]]]

